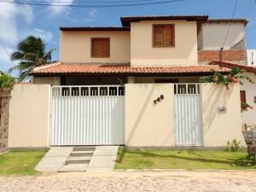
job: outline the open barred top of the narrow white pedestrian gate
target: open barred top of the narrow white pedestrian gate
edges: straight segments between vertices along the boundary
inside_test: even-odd
[[[200,84],[174,84],[175,95],[199,95],[201,94]]]

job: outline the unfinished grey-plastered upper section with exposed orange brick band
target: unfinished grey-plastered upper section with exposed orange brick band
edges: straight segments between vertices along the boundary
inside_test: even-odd
[[[222,61],[246,64],[245,27],[247,22],[248,20],[244,19],[219,19],[200,23],[198,27],[198,61],[206,64],[209,61],[220,60],[219,51],[223,47]]]

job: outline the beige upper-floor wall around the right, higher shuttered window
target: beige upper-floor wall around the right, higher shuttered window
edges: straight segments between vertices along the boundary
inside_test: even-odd
[[[154,48],[152,25],[174,24],[175,47]],[[148,20],[131,23],[131,66],[168,66],[197,64],[195,21]]]

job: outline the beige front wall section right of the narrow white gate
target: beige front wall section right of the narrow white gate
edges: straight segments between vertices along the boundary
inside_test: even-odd
[[[240,86],[201,84],[202,124],[204,146],[226,146],[227,141],[236,139],[245,146],[241,128]],[[225,107],[219,111],[218,107]]]

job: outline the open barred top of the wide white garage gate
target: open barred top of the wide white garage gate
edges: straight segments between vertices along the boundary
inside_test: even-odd
[[[52,86],[51,96],[124,96],[121,85]]]

